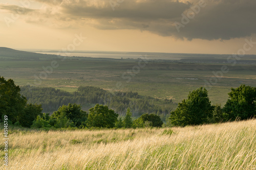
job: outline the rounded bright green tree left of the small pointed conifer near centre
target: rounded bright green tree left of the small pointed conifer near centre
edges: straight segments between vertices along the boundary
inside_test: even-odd
[[[109,109],[108,106],[96,104],[89,109],[88,126],[114,128],[117,122],[118,114],[114,110]]]

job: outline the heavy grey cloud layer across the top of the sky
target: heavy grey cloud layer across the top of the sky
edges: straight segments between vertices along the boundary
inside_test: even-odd
[[[36,1],[46,6],[37,10],[26,9],[23,15],[34,16],[28,17],[27,22],[48,22],[59,28],[90,25],[101,30],[136,29],[188,40],[228,40],[256,33],[255,0],[205,0],[205,7],[184,28],[181,27],[180,32],[175,23],[182,23],[181,14],[187,15],[199,1],[119,0],[115,10],[110,0]],[[0,9],[5,11],[15,11],[17,7],[0,4]]]

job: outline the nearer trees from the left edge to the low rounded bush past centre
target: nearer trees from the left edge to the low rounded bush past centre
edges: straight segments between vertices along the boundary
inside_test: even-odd
[[[89,89],[94,91],[93,88]],[[104,92],[102,89],[98,90]],[[57,90],[57,93],[63,94],[66,92]],[[66,94],[69,95],[69,93]],[[125,95],[137,96],[138,94],[128,92]],[[16,86],[13,80],[7,81],[4,77],[0,77],[0,116],[0,122],[3,122],[4,116],[8,116],[9,124],[45,129],[161,127],[163,124],[160,117],[156,114],[142,114],[142,116],[133,121],[130,108],[127,108],[123,120],[121,117],[118,119],[119,114],[109,109],[108,106],[100,104],[96,104],[93,108],[89,109],[89,113],[83,111],[81,105],[76,103],[62,105],[52,115],[42,113],[41,105],[29,104],[28,100],[20,94],[19,86]]]

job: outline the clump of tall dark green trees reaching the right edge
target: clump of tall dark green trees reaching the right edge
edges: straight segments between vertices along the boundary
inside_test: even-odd
[[[225,106],[211,105],[208,91],[201,87],[189,92],[188,98],[178,104],[167,118],[169,126],[202,125],[233,120],[245,120],[256,116],[256,87],[241,85],[231,88]]]

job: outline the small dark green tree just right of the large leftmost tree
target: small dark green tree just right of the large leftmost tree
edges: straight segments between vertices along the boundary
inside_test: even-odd
[[[23,127],[30,128],[30,126],[33,124],[33,121],[36,119],[36,117],[42,116],[42,107],[41,105],[37,104],[27,104],[23,114],[21,114],[18,117],[18,122]]]

